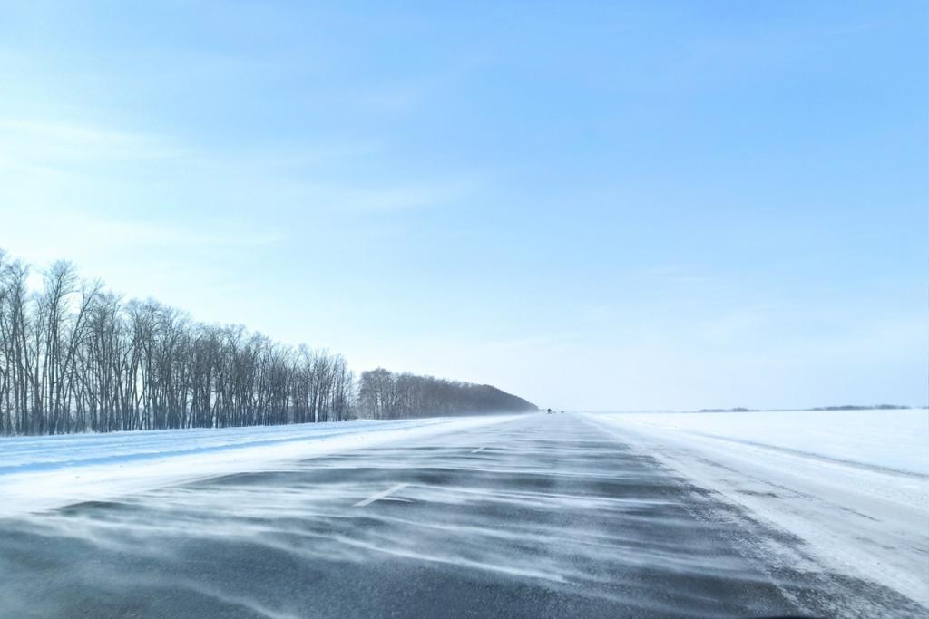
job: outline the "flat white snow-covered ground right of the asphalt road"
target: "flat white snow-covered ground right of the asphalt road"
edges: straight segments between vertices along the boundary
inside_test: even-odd
[[[929,603],[929,412],[612,413],[586,419],[804,542],[810,570]],[[772,552],[777,549],[772,548]]]

